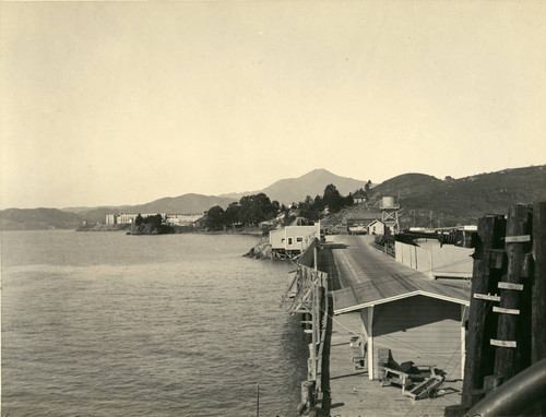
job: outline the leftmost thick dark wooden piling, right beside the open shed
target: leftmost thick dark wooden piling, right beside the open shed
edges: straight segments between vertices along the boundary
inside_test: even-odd
[[[500,270],[490,269],[490,250],[503,246],[506,222],[503,216],[490,215],[478,221],[477,239],[474,242],[474,266],[472,277],[471,305],[466,334],[466,356],[462,407],[472,407],[480,400],[476,391],[483,389],[484,377],[491,374],[495,352],[489,338],[496,334],[496,317],[490,313],[492,301],[474,298],[474,294],[496,291]]]

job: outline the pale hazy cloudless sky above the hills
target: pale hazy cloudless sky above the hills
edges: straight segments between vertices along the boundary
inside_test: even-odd
[[[0,9],[2,208],[546,162],[543,1]]]

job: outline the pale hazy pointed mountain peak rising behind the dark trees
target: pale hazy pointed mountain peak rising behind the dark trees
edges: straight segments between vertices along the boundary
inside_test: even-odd
[[[325,169],[314,169],[298,178],[278,180],[262,190],[223,194],[223,196],[230,196],[240,200],[244,195],[263,192],[272,201],[276,200],[280,203],[289,204],[293,202],[297,203],[299,201],[304,201],[307,195],[311,195],[312,198],[316,195],[322,195],[324,193],[324,188],[330,183],[333,183],[337,190],[345,195],[349,192],[358,190],[359,188],[364,188],[366,182],[368,181],[340,177]]]

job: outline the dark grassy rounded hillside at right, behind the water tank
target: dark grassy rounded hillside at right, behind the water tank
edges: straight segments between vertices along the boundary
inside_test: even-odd
[[[506,214],[512,203],[546,200],[546,166],[444,180],[424,174],[401,175],[375,187],[367,204],[349,207],[328,223],[339,223],[352,212],[377,211],[383,196],[396,198],[403,228],[476,224],[486,214]]]

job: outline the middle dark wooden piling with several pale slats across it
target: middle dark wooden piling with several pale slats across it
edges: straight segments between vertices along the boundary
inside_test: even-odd
[[[531,309],[522,302],[524,291],[530,291],[530,282],[524,282],[522,277],[522,264],[524,253],[529,252],[531,247],[531,207],[527,204],[510,205],[505,246],[508,269],[502,284],[499,283],[500,305],[495,309],[499,313],[495,337],[498,342],[494,342],[497,344],[495,376],[502,377],[503,382],[530,366],[530,341],[525,342],[525,338],[529,339],[531,326],[529,321],[523,319],[529,315],[524,310]],[[506,285],[507,283],[509,285]]]

